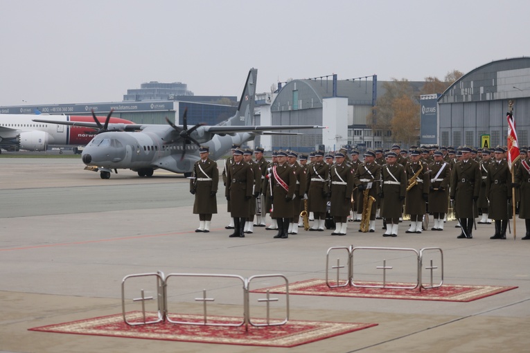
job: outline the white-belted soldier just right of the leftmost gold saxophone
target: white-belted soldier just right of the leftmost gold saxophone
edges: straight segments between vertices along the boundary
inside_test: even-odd
[[[329,192],[329,166],[324,163],[324,152],[315,152],[315,162],[308,171],[308,208],[313,212],[315,221],[309,229],[311,231],[324,231],[326,221],[327,197]]]

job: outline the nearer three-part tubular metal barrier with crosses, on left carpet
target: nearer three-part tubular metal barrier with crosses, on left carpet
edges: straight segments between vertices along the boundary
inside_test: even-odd
[[[133,302],[141,301],[142,304],[142,318],[141,321],[131,322],[127,320],[127,315],[125,311],[125,282],[130,278],[155,278],[156,287],[157,287],[157,317],[151,320],[147,320],[145,316],[145,300],[153,300],[154,298],[145,297],[144,290],[141,289],[141,298],[132,299]],[[242,282],[243,290],[243,317],[240,322],[236,323],[215,323],[215,321],[208,320],[208,315],[206,312],[206,303],[213,302],[215,298],[207,298],[206,289],[202,290],[202,298],[195,298],[195,301],[202,302],[203,310],[203,320],[202,322],[191,321],[191,320],[174,320],[171,318],[171,314],[168,312],[168,280],[170,278],[184,278],[184,277],[196,277],[196,278],[235,278]],[[250,317],[250,284],[252,280],[258,278],[281,278],[285,282],[285,318],[283,320],[275,320],[271,322],[270,320],[270,303],[279,301],[279,298],[270,298],[270,293],[267,291],[266,298],[259,298],[258,302],[266,303],[267,316],[265,318],[265,323],[260,323],[256,320],[252,320]],[[173,282],[171,282],[173,283]],[[152,323],[160,323],[161,321],[168,321],[168,323],[180,324],[180,325],[208,325],[208,326],[232,326],[240,327],[245,325],[245,329],[248,330],[248,325],[255,327],[260,326],[279,326],[285,325],[289,320],[289,281],[284,275],[272,274],[272,275],[253,275],[249,278],[243,278],[240,275],[223,275],[223,274],[203,274],[203,273],[170,273],[169,275],[164,275],[163,272],[157,271],[157,273],[137,273],[133,275],[126,275],[121,281],[121,305],[123,312],[123,321],[130,326],[137,325],[148,325]]]

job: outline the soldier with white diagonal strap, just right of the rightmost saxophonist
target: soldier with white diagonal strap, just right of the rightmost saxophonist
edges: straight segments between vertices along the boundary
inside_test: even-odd
[[[429,187],[429,212],[434,218],[431,230],[443,230],[443,219],[448,210],[449,183],[451,170],[449,163],[443,161],[443,153],[434,151],[434,162],[430,163],[431,185]]]

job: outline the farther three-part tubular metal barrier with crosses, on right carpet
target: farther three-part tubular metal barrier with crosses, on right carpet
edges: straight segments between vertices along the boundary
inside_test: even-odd
[[[414,271],[416,271],[416,283],[413,286],[398,286],[398,285],[387,285],[387,269],[392,269],[393,266],[387,266],[387,260],[383,260],[383,266],[376,266],[376,269],[382,269],[383,270],[383,282],[382,285],[380,284],[366,284],[362,282],[355,282],[354,280],[354,252],[355,251],[409,251],[414,253],[416,257],[416,266],[414,267]],[[330,253],[337,251],[346,251],[348,255],[348,278],[344,280],[344,282],[341,282],[339,279],[339,271],[340,268],[344,268],[344,266],[339,267],[339,258],[337,258],[337,266],[331,266],[330,268]],[[422,280],[422,273],[423,273],[423,257],[425,256],[425,252],[427,251],[436,251],[440,254],[440,270],[441,270],[441,280],[438,284],[433,283],[433,271],[435,269],[438,269],[438,266],[433,266],[432,259],[430,260],[430,266],[425,267],[426,270],[430,271],[430,285],[424,285]],[[335,284],[329,280],[329,273],[330,269],[337,269],[337,280]],[[362,287],[362,288],[390,288],[390,289],[416,289],[419,288],[421,291],[422,289],[433,289],[441,287],[443,284],[443,251],[441,248],[422,248],[420,251],[416,251],[414,248],[385,248],[385,247],[371,247],[371,246],[357,246],[354,247],[351,246],[334,246],[331,248],[328,248],[328,253],[326,254],[326,285],[329,288],[338,288],[338,287]]]

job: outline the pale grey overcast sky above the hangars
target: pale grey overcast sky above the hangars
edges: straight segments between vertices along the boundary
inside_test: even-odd
[[[119,102],[149,81],[240,96],[289,78],[443,79],[530,55],[530,1],[0,0],[0,105]]]

